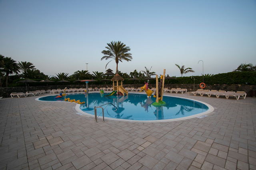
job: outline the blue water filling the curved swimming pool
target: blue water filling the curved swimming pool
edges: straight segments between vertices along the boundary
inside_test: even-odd
[[[104,93],[108,95],[110,93]],[[41,97],[40,101],[64,101],[64,97],[54,99],[57,95]],[[85,113],[94,115],[94,106],[104,105],[111,102],[118,109],[110,104],[102,106],[104,117],[116,119],[129,119],[137,121],[153,121],[163,119],[176,119],[188,117],[207,111],[209,108],[198,101],[190,99],[164,96],[166,106],[154,107],[151,105],[155,98],[147,98],[145,94],[129,93],[128,96],[101,96],[100,93],[89,93],[88,97],[83,93],[68,94],[66,98],[85,101],[80,109]],[[64,101],[65,102],[65,101]],[[66,101],[67,102],[67,101]],[[88,103],[88,105],[87,105]],[[115,111],[116,110],[116,111]],[[102,109],[97,109],[97,115],[102,116]]]

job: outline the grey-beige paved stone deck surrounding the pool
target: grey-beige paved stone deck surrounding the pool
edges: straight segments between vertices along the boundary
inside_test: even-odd
[[[256,98],[165,95],[214,111],[174,122],[96,123],[74,103],[0,99],[0,169],[256,170]]]

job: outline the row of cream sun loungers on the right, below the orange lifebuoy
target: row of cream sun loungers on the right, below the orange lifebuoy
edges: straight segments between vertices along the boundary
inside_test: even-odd
[[[219,98],[220,96],[225,96],[226,99],[228,99],[230,96],[232,97],[236,97],[236,100],[238,100],[240,98],[240,96],[242,96],[244,99],[246,98],[246,93],[244,91],[224,91],[224,90],[203,90],[203,89],[198,89],[197,91],[190,91],[188,92],[188,94],[193,94],[193,95],[197,95],[199,94],[200,96],[203,95],[208,95],[208,97],[211,97],[211,95],[215,95],[217,98]]]

